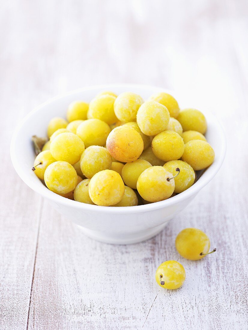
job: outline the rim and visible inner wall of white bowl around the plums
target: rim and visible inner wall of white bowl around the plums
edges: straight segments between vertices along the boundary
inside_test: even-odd
[[[39,137],[46,136],[47,125],[51,118],[55,116],[65,117],[66,110],[70,102],[75,100],[84,100],[89,102],[97,93],[103,90],[111,90],[116,94],[120,94],[124,91],[132,91],[134,93],[140,94],[144,100],[146,100],[152,93],[158,91],[167,91],[162,88],[146,86],[146,85],[132,85],[132,84],[112,84],[112,85],[102,85],[102,86],[93,86],[75,90],[63,96],[55,97],[51,100],[48,100],[46,103],[37,107],[35,110],[30,112],[18,125],[11,143],[11,158],[13,165],[20,176],[20,178],[33,190],[40,193],[41,195],[55,200],[58,203],[69,203],[71,206],[77,206],[81,208],[96,208],[95,205],[86,205],[83,203],[78,203],[75,201],[68,200],[61,196],[54,194],[49,191],[42,182],[34,175],[31,171],[33,166],[35,154],[33,150],[33,145],[31,142],[32,135],[37,135]],[[185,104],[184,100],[180,98],[180,95],[176,95],[173,92],[171,93],[178,100],[180,107],[186,108],[192,105]],[[201,178],[185,192],[165,201],[161,201],[154,204],[142,205],[132,208],[106,208],[98,207],[103,209],[108,209],[109,212],[122,212],[127,209],[140,209],[140,208],[156,208],[156,207],[165,207],[171,203],[178,202],[181,198],[186,197],[189,194],[195,194],[199,191],[205,184],[207,184],[214,175],[218,172],[221,164],[224,160],[226,142],[225,135],[220,123],[217,119],[209,112],[201,110],[206,116],[208,123],[208,130],[206,133],[207,141],[211,144],[215,151],[215,160],[214,163],[203,173]],[[214,111],[214,109],[212,110]],[[172,201],[173,200],[173,201]],[[118,210],[117,210],[118,209]],[[100,210],[100,209],[99,209]],[[113,211],[111,211],[113,210]],[[114,211],[115,210],[115,211]],[[131,211],[131,210],[130,210]]]

